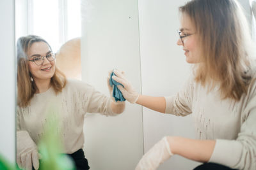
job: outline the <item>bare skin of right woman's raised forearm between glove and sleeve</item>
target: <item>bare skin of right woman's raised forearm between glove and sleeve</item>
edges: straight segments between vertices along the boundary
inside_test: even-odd
[[[150,110],[159,111],[161,113],[164,113],[166,108],[166,101],[164,97],[140,95],[136,103],[145,106]]]

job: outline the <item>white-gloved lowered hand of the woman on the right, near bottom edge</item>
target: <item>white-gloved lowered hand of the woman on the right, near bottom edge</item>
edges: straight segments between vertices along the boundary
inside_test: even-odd
[[[143,155],[135,170],[155,170],[172,155],[173,153],[165,136]]]

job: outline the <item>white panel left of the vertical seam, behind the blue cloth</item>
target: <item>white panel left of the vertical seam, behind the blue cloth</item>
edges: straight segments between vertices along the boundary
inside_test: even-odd
[[[108,71],[122,69],[140,92],[138,1],[82,1],[82,23],[82,80],[109,95]],[[85,156],[92,170],[131,170],[141,159],[142,108],[126,104],[117,117],[86,115]]]

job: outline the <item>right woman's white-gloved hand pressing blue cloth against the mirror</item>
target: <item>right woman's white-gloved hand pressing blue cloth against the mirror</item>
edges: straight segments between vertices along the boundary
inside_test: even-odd
[[[112,78],[118,83],[124,85],[124,87],[122,87],[122,85],[118,85],[118,89],[122,92],[124,98],[130,103],[136,103],[136,101],[138,101],[139,94],[136,92],[136,90],[134,90],[131,83],[125,78],[124,72],[115,69],[114,73],[116,76],[112,76]]]

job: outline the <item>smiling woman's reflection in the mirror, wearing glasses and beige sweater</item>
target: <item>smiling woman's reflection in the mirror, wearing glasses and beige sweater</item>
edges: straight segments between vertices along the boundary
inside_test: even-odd
[[[51,112],[52,117],[60,118],[56,131],[63,152],[74,159],[77,169],[89,169],[82,149],[85,113],[116,115],[124,111],[125,103],[116,103],[113,97],[104,96],[82,81],[66,80],[56,68],[51,46],[38,36],[19,38],[17,57],[17,163],[26,169],[32,165],[38,169],[36,145],[44,135]],[[108,87],[111,92],[109,83]]]

